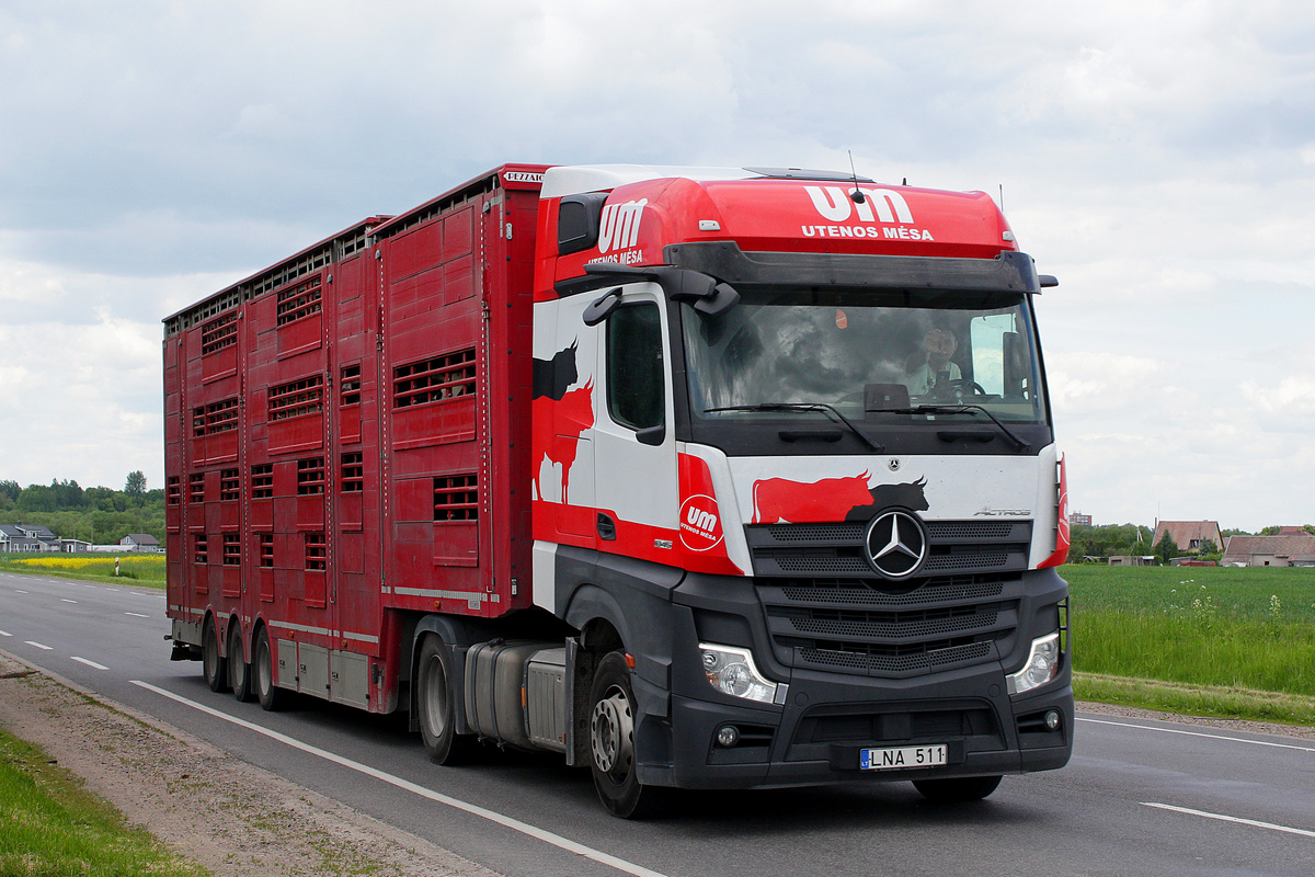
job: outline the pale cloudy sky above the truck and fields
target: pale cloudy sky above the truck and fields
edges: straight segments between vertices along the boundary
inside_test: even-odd
[[[505,160],[984,189],[1073,508],[1315,522],[1315,5],[0,0],[0,479],[163,484],[160,320]]]

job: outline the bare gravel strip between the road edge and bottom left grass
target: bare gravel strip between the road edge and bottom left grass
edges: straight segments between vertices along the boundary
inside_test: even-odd
[[[0,651],[0,724],[221,877],[497,877]]]

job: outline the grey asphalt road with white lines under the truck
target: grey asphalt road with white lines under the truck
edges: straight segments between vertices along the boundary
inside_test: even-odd
[[[558,756],[425,759],[405,717],[264,713],[171,663],[164,594],[0,573],[0,648],[508,877],[1315,874],[1315,742],[1080,714],[1069,767],[988,801],[909,784],[700,793],[606,815]]]

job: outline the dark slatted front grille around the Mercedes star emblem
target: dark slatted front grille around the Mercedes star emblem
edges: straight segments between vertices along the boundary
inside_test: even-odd
[[[1013,647],[1030,521],[927,521],[914,577],[882,579],[865,522],[746,527],[777,657],[792,667],[906,677],[998,660]]]

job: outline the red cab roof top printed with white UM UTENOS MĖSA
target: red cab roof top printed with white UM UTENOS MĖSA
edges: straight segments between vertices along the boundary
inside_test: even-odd
[[[1016,249],[1005,217],[982,192],[865,180],[672,176],[622,183],[610,192],[552,197],[547,183],[540,234],[562,246],[555,254],[540,251],[538,300],[579,291],[588,264],[665,264],[668,247],[680,245],[726,242],[740,252],[948,259],[994,259]],[[563,222],[571,227],[559,227]],[[1034,291],[1035,281],[1027,287]]]

